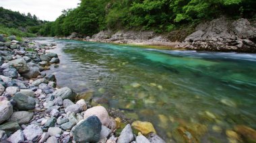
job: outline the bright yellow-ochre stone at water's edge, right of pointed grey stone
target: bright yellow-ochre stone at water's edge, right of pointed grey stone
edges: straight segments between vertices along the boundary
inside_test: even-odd
[[[139,130],[145,136],[150,134],[151,132],[156,134],[156,130],[150,122],[135,121],[133,122],[133,124],[131,124],[131,126],[136,130]]]

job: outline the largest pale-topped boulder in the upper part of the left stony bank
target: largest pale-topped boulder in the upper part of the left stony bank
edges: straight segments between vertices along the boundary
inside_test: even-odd
[[[30,68],[28,68],[28,66],[27,66],[26,60],[24,60],[23,58],[11,60],[9,62],[9,65],[16,68],[20,74],[26,73],[30,70]]]

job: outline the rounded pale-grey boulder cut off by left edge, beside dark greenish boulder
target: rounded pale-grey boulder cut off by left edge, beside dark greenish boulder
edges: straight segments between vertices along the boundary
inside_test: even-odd
[[[5,120],[8,120],[13,112],[11,102],[9,101],[0,101],[0,124]]]

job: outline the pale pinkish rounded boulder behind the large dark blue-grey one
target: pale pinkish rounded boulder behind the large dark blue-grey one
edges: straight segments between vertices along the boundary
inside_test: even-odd
[[[102,123],[102,125],[108,127],[110,123],[110,117],[108,116],[108,111],[106,111],[105,107],[96,106],[96,107],[87,109],[84,112],[84,120],[86,120],[88,117],[92,115],[96,115],[100,119],[100,122]]]

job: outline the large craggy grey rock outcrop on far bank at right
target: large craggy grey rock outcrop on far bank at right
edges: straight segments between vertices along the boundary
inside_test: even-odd
[[[201,23],[183,44],[192,50],[256,52],[256,28],[247,19],[230,21],[220,17]]]

